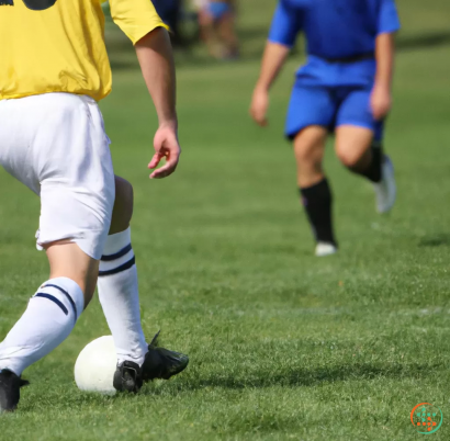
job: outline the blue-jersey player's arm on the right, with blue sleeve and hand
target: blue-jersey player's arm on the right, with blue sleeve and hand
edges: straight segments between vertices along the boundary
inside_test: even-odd
[[[371,95],[375,120],[383,120],[392,106],[392,79],[394,74],[395,41],[400,29],[394,0],[380,0],[379,33],[375,41],[376,72]]]

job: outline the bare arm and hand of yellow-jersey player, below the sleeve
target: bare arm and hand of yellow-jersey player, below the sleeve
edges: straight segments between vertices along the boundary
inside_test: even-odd
[[[166,159],[166,163],[155,170],[150,178],[165,178],[176,170],[181,154],[178,143],[175,64],[169,34],[164,27],[158,27],[140,38],[135,47],[159,121],[154,139],[155,155],[148,168],[155,169],[161,159]]]

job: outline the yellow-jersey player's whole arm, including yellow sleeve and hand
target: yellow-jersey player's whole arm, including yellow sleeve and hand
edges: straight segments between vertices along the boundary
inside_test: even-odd
[[[165,178],[173,173],[180,157],[176,112],[176,75],[172,48],[166,25],[148,0],[110,0],[114,22],[130,37],[148,91],[155,103],[159,128],[154,138],[155,155],[148,165],[158,167],[150,178]]]

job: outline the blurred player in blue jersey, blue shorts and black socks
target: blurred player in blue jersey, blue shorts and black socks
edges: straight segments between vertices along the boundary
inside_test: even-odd
[[[296,74],[285,135],[293,142],[316,256],[337,251],[331,191],[323,169],[329,133],[342,165],[373,183],[378,212],[389,212],[395,202],[394,170],[383,154],[382,136],[398,29],[394,0],[279,0],[250,114],[267,125],[269,89],[303,32],[307,61]]]

